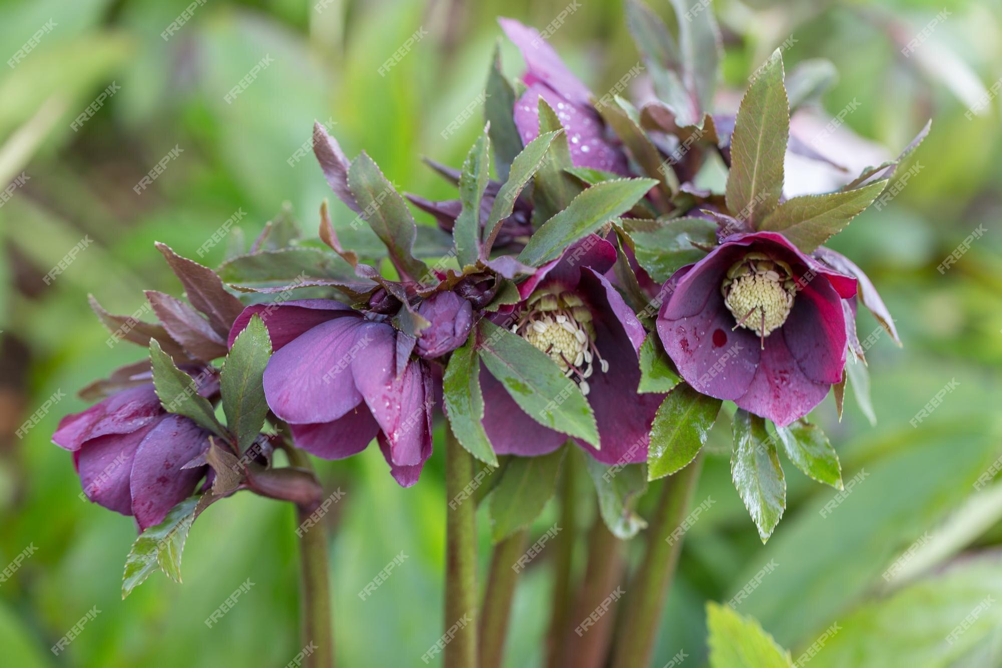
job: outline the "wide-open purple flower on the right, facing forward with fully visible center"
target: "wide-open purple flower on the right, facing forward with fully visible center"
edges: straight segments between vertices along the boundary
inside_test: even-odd
[[[665,289],[657,332],[697,391],[786,426],[842,380],[856,279],[783,235],[728,237]]]

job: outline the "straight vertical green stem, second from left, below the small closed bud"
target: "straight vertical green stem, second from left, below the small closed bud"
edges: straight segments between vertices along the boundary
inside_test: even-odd
[[[473,479],[473,455],[451,429],[445,431],[446,499],[452,500],[462,498],[463,488]],[[477,509],[469,498],[454,506],[446,510],[445,629],[456,629],[445,646],[445,667],[476,668]]]

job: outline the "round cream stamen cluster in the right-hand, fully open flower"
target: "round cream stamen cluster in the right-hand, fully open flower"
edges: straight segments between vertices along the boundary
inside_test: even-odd
[[[787,321],[794,306],[796,283],[790,265],[764,253],[748,253],[731,265],[720,285],[723,303],[737,322],[766,345],[766,337]]]

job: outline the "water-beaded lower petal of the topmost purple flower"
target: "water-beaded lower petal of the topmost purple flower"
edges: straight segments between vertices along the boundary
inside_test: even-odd
[[[601,117],[590,104],[574,104],[539,83],[533,83],[515,102],[514,120],[525,143],[539,135],[539,98],[556,112],[567,131],[567,146],[574,166],[592,168],[627,175],[622,151],[605,139]]]

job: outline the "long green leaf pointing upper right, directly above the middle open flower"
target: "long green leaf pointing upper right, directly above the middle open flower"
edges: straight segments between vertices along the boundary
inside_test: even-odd
[[[595,184],[546,221],[529,238],[518,261],[538,267],[558,258],[578,239],[629,211],[656,184],[652,179],[620,179]]]

